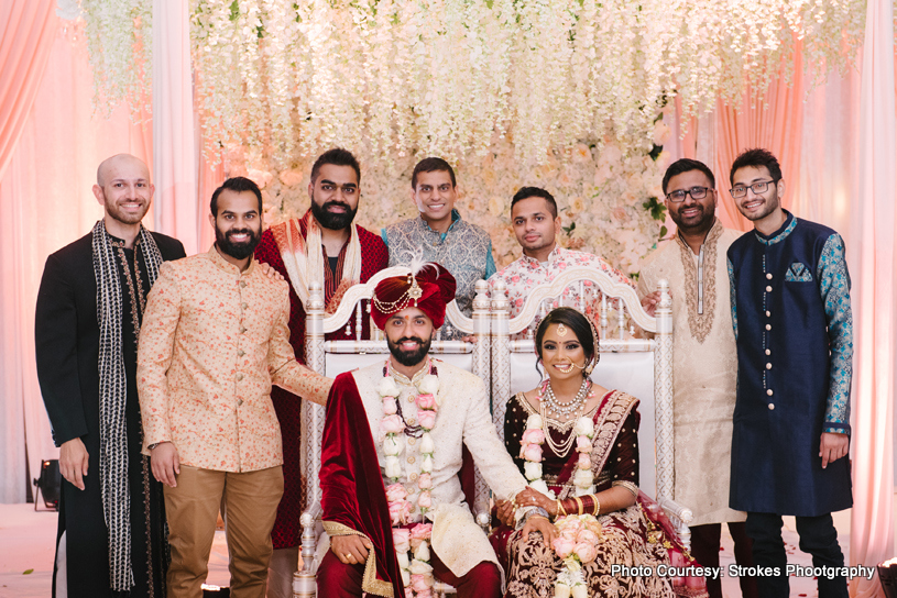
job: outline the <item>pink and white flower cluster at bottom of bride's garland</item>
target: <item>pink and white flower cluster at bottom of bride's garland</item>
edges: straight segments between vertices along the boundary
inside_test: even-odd
[[[555,598],[586,598],[589,588],[582,565],[598,555],[601,541],[601,523],[591,514],[568,514],[555,521],[558,538],[551,543],[565,568],[555,579]]]

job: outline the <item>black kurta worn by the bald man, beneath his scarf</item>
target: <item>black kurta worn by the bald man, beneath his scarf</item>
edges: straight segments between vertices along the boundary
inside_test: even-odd
[[[151,233],[163,259],[185,257],[181,242]],[[80,438],[88,453],[85,489],[63,479],[57,542],[66,532],[66,568],[70,598],[111,597],[109,540],[99,476],[99,323],[94,275],[92,233],[51,255],[44,267],[35,313],[35,352],[41,394],[57,446]],[[133,276],[134,250],[124,250]],[[138,251],[140,289],[150,291],[147,268]],[[122,291],[122,351],[128,379],[129,485],[131,490],[131,562],[135,586],[131,596],[164,596],[167,538],[162,485],[141,455],[142,430],[136,394],[136,335],[129,283],[116,256]],[[133,278],[132,278],[133,280]],[[136,288],[135,288],[136,291]],[[53,578],[55,596],[56,577]]]

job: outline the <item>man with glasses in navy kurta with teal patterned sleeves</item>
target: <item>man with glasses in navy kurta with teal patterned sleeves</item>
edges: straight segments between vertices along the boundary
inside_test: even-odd
[[[853,319],[844,242],[781,209],[778,160],[748,150],[732,165],[732,198],[754,223],[729,248],[739,390],[730,507],[747,511],[761,594],[787,597],[781,516],[796,517],[816,567],[844,566],[831,513],[851,495]],[[847,596],[840,575],[818,577],[820,598]]]

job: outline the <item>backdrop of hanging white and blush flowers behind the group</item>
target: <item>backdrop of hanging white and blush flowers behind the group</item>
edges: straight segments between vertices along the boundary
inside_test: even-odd
[[[152,0],[59,1],[85,20],[98,107],[149,112]],[[413,215],[409,173],[439,155],[500,265],[517,256],[510,199],[536,185],[558,199],[562,244],[634,275],[666,233],[665,107],[677,98],[685,123],[718,99],[762,99],[794,76],[796,53],[817,81],[846,68],[865,5],[190,0],[196,106],[208,155],[223,148],[230,174],[264,185],[270,222],[304,211],[310,162],[328,147],[364,165],[359,219],[371,229]]]

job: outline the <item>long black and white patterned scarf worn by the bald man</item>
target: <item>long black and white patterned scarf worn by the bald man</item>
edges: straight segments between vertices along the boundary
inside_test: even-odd
[[[152,287],[158,276],[162,254],[153,235],[142,225],[139,239],[136,247],[143,252]],[[139,273],[134,275],[140,276]],[[109,576],[111,589],[130,591],[134,574],[131,568],[131,500],[124,417],[128,380],[121,340],[124,299],[116,248],[102,220],[94,226],[94,276],[97,279],[97,321],[100,326],[100,487],[109,530]]]

